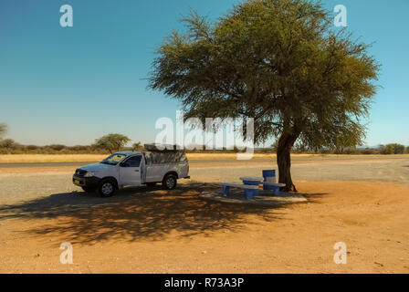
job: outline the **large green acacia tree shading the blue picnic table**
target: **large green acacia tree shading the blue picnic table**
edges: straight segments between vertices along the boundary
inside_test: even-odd
[[[379,65],[307,0],[250,0],[211,23],[191,13],[153,61],[150,88],[182,101],[185,118],[251,117],[255,143],[278,139],[279,183],[297,191],[290,151],[361,142]]]

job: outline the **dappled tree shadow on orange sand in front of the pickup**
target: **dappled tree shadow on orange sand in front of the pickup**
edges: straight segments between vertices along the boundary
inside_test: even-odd
[[[156,241],[176,231],[178,236],[239,231],[248,224],[246,214],[266,221],[279,219],[278,207],[207,202],[197,195],[219,189],[213,183],[185,183],[173,191],[161,187],[130,188],[111,198],[89,193],[54,193],[44,198],[0,206],[0,220],[54,219],[21,232],[64,237],[71,243],[100,241]]]

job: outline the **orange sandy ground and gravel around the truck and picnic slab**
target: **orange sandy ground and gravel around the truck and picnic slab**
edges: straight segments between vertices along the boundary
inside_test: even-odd
[[[193,163],[194,181],[175,191],[131,188],[110,199],[77,192],[72,167],[0,170],[0,272],[409,273],[409,183],[395,179],[409,176],[407,159],[295,163],[308,203],[198,198],[219,180],[273,166],[235,163]],[[63,242],[72,265],[60,264]],[[333,261],[338,242],[346,265]]]

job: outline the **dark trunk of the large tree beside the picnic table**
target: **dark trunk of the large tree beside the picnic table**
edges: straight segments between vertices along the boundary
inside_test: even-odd
[[[285,183],[281,188],[283,192],[297,192],[296,186],[291,179],[291,148],[299,138],[297,133],[283,132],[278,139],[277,164],[278,164],[278,183]]]

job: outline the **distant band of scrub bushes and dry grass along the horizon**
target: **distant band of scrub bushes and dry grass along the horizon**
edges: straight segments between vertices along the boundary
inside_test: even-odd
[[[91,145],[76,145],[76,146],[66,146],[63,144],[52,144],[46,146],[37,145],[22,145],[12,139],[3,139],[7,131],[7,125],[5,123],[0,124],[0,154],[44,154],[44,155],[60,155],[59,158],[52,158],[48,160],[43,155],[42,158],[37,156],[37,158],[24,159],[20,155],[16,159],[16,162],[87,162],[89,160],[85,159],[86,155],[94,154],[100,159],[105,154],[112,153],[114,151],[143,151],[143,145],[141,141],[134,142],[130,147],[125,146],[126,143],[130,142],[131,139],[127,136],[121,134],[109,134],[99,139],[96,139],[94,144]],[[276,154],[278,150],[278,141],[270,145],[269,147],[259,147],[255,149],[258,158],[265,158],[266,155],[261,154]],[[222,151],[208,151],[205,150],[204,145],[196,145],[194,150],[185,150],[188,153],[197,153],[200,157],[205,157],[203,154],[208,154],[206,159],[225,159],[227,157],[235,159],[234,153],[238,152],[237,149],[234,150],[222,150]],[[409,153],[409,146],[404,147],[402,144],[391,143],[387,145],[379,145],[372,148],[358,148],[356,146],[342,147],[342,148],[328,148],[328,147],[317,147],[315,149],[306,148],[301,143],[296,143],[291,149],[291,153],[294,154],[354,154],[354,155],[377,155],[377,154],[404,154]],[[79,154],[78,158],[74,158],[76,154]],[[222,155],[222,154],[227,154]],[[65,157],[63,157],[65,155]],[[100,156],[99,156],[100,155]],[[101,156],[102,155],[102,156]],[[230,155],[230,156],[228,156]],[[92,156],[88,156],[92,157]],[[271,155],[268,157],[272,157]],[[276,156],[274,156],[276,157]],[[84,160],[85,159],[85,160]],[[91,160],[92,161],[92,160]],[[15,162],[14,159],[0,159],[0,162]]]

